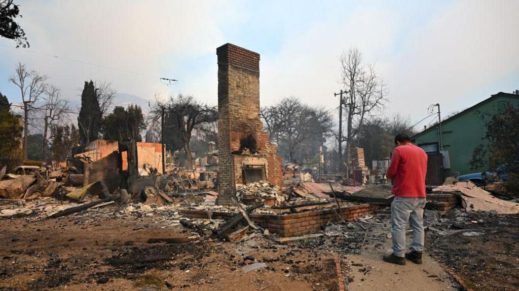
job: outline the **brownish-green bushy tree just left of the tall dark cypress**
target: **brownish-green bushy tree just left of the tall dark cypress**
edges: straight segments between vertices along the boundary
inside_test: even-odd
[[[55,161],[64,162],[72,155],[72,148],[79,142],[78,129],[72,125],[53,126],[50,129],[51,149]]]

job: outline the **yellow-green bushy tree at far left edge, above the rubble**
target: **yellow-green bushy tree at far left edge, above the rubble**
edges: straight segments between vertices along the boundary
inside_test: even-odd
[[[18,117],[8,109],[0,108],[0,165],[7,165],[8,170],[18,166],[23,160],[21,138],[22,126]]]

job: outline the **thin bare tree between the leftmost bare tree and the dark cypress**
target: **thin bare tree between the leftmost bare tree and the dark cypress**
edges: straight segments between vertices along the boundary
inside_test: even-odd
[[[69,100],[61,98],[60,89],[54,85],[50,85],[45,90],[45,96],[43,99],[45,100],[45,104],[42,106],[42,109],[45,110],[45,115],[43,118],[43,149],[42,156],[46,158],[47,151],[47,142],[48,142],[48,131],[49,127],[56,125],[56,123],[66,115],[67,110],[69,110]]]

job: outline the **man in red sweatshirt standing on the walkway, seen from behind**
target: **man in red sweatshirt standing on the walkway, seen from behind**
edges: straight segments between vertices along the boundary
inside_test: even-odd
[[[405,258],[421,264],[424,250],[424,207],[427,154],[411,143],[406,134],[394,138],[396,148],[386,176],[393,179],[394,194],[391,203],[391,234],[393,253],[383,257],[388,263],[405,265]],[[409,223],[413,230],[411,251],[405,253],[405,227]]]

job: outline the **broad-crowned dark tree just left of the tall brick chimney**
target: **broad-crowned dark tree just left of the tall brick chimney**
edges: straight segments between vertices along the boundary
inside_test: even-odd
[[[202,104],[193,96],[179,94],[176,98],[170,97],[166,103],[157,102],[155,104],[152,111],[155,120],[158,120],[162,111],[175,119],[174,126],[181,133],[182,144],[186,153],[186,166],[188,169],[192,169],[193,157],[189,142],[195,132],[208,130],[207,124],[216,122],[218,119],[216,107]],[[171,131],[171,129],[166,127],[165,131]]]

